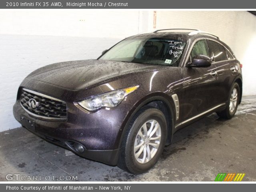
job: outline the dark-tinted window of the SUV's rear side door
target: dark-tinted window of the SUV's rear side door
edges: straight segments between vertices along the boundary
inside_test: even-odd
[[[226,50],[221,44],[211,40],[208,41],[208,44],[209,44],[210,50],[212,51],[212,56],[215,62],[228,59]]]

